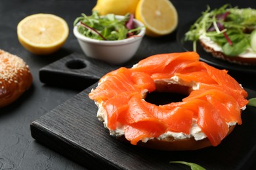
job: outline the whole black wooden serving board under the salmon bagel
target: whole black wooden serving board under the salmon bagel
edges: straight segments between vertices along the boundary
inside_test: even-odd
[[[66,63],[73,60],[85,62],[87,67],[67,67]],[[78,65],[81,65],[79,62]],[[89,169],[188,169],[185,165],[169,163],[175,160],[198,163],[206,169],[248,169],[256,160],[256,126],[251,121],[256,120],[256,109],[253,107],[247,107],[243,112],[242,126],[237,126],[216,147],[164,152],[118,141],[98,121],[98,108],[88,97],[91,89],[96,87],[98,78],[115,67],[105,63],[96,67],[94,62],[79,54],[72,54],[40,70],[41,80],[45,83],[54,84],[73,78],[75,84],[81,81],[85,86],[95,84],[32,122],[32,137],[39,143]],[[54,75],[54,78],[47,79],[50,75]],[[253,90],[247,89],[247,92],[249,97],[256,96]],[[158,98],[162,96],[158,95]]]

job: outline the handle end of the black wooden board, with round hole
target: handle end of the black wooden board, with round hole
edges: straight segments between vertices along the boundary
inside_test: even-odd
[[[116,68],[116,65],[73,53],[41,68],[39,78],[45,84],[84,90]]]

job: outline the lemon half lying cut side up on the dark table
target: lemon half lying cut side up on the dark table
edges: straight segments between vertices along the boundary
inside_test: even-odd
[[[53,14],[33,14],[17,26],[18,40],[33,54],[56,52],[66,41],[69,29],[65,20]]]

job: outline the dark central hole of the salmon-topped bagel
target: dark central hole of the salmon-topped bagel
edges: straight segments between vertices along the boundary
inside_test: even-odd
[[[166,105],[173,102],[182,101],[188,95],[170,92],[151,92],[146,95],[146,101],[154,105]]]

